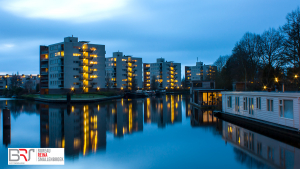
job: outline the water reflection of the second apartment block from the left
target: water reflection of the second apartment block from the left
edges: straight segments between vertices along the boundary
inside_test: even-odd
[[[107,129],[117,137],[143,131],[143,100],[122,99],[108,105]]]

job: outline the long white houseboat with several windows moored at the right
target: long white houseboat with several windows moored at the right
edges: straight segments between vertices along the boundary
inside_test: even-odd
[[[223,115],[299,133],[300,93],[222,91]]]

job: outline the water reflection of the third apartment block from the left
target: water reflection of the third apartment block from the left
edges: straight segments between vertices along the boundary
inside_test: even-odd
[[[181,100],[181,95],[146,98],[144,101],[144,122],[157,123],[158,127],[181,122]]]

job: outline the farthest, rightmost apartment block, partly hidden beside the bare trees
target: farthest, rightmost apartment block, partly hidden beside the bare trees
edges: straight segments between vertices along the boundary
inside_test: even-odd
[[[203,65],[196,62],[196,66],[185,66],[185,86],[191,87],[193,80],[215,80],[217,66]]]

